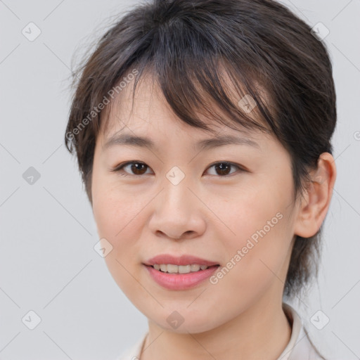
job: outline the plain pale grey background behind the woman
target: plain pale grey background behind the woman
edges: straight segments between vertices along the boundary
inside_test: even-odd
[[[81,56],[110,16],[136,2],[0,1],[0,359],[111,360],[147,329],[145,316],[94,251],[91,207],[63,145],[75,50]],[[360,2],[284,4],[309,25],[321,22],[330,30],[323,41],[338,95],[338,179],[319,281],[306,304],[293,306],[329,359],[359,359]],[[22,33],[30,22],[41,30],[34,41]],[[40,174],[32,185],[23,179],[29,167]],[[30,310],[41,318],[34,330],[27,327],[34,321]],[[314,314],[318,323],[325,316],[329,323],[319,330]]]

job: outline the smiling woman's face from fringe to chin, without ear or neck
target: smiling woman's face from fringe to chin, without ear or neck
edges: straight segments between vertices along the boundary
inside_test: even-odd
[[[98,235],[113,246],[105,262],[116,283],[150,321],[179,333],[210,330],[254,304],[281,301],[297,214],[288,152],[269,134],[214,126],[214,135],[176,120],[150,82],[137,89],[131,113],[130,90],[96,139],[91,187]],[[146,137],[153,147],[120,136]],[[245,141],[200,146],[230,136]],[[125,162],[134,164],[112,171]],[[157,255],[219,266],[199,282],[201,269],[164,274],[147,266]],[[181,272],[191,270],[183,265]]]

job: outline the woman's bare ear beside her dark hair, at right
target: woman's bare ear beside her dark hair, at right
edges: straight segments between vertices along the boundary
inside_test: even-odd
[[[310,238],[319,231],[328,212],[336,179],[335,160],[330,153],[319,156],[318,167],[310,173],[311,183],[304,194],[294,224],[294,234]]]

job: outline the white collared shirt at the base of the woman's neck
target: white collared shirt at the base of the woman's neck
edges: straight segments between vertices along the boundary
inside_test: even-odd
[[[283,303],[283,310],[290,319],[292,326],[290,341],[277,360],[325,360],[318,350],[312,345],[307,331],[302,325],[302,320],[289,304]],[[141,338],[130,348],[126,349],[116,360],[139,360],[141,349],[148,332],[141,335]]]

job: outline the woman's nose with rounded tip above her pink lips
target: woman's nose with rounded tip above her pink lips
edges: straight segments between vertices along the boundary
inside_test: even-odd
[[[167,179],[159,195],[152,202],[150,231],[155,236],[173,240],[190,239],[205,232],[205,205],[187,181],[172,184]]]

